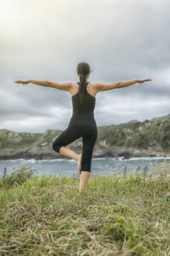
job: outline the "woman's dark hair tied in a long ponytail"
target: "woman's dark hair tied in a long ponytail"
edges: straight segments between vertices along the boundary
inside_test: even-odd
[[[90,66],[87,62],[80,62],[77,66],[77,72],[80,75],[80,88],[79,88],[79,97],[80,102],[83,105],[83,98],[85,96],[85,87],[86,87],[86,80],[85,76],[87,76],[88,73],[90,73]]]

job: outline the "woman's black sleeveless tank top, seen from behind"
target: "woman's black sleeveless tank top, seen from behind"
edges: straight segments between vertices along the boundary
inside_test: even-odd
[[[79,91],[71,97],[72,100],[72,116],[69,126],[93,126],[97,128],[95,123],[94,109],[95,97],[88,94],[87,84],[85,85],[85,95],[83,105],[80,102]],[[79,82],[78,82],[79,85]]]

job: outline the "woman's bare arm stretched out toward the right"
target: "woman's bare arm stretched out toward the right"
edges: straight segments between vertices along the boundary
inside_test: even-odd
[[[127,81],[119,81],[116,83],[95,83],[94,86],[96,91],[108,91],[112,89],[128,87],[132,84],[137,84],[137,83],[141,84],[146,81],[151,81],[151,79],[134,79],[134,80],[127,80]]]

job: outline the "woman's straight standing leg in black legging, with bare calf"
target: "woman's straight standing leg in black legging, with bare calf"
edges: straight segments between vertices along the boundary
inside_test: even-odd
[[[80,177],[79,191],[85,190],[91,172],[92,152],[97,140],[98,130],[86,127],[82,134],[82,172]]]

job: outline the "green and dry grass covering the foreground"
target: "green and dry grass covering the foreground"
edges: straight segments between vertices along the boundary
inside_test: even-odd
[[[0,178],[1,255],[169,255],[169,171]],[[20,173],[20,174],[19,174]]]

